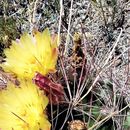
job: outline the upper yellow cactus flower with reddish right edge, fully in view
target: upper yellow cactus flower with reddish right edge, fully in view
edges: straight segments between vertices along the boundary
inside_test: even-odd
[[[20,78],[32,78],[35,72],[46,75],[55,72],[57,62],[57,38],[51,38],[49,30],[34,35],[25,33],[10,48],[5,49],[6,62],[1,66]]]

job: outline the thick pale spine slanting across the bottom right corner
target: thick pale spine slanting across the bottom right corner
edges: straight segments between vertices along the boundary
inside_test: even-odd
[[[102,119],[101,121],[97,122],[95,125],[93,125],[92,127],[90,127],[88,130],[93,130],[95,127],[99,126],[101,123],[103,123],[104,121],[110,119],[111,117],[121,113],[122,111],[124,111],[127,107],[129,107],[130,104],[128,104],[127,106],[125,106],[124,108],[122,108],[120,111],[115,111],[110,113],[108,116],[106,116],[104,119]]]

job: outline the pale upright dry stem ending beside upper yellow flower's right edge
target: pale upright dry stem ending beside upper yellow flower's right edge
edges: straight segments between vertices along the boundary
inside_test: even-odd
[[[61,30],[61,17],[63,13],[63,0],[60,0],[60,19],[59,19],[59,26],[58,26],[58,40],[57,43],[59,44],[60,41],[60,30]]]

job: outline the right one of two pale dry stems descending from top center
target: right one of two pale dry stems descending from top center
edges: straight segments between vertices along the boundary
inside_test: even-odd
[[[73,8],[73,0],[71,0],[69,24],[68,24],[67,37],[66,37],[66,42],[65,42],[65,51],[64,51],[65,55],[68,53],[68,44],[69,44],[69,39],[70,39],[69,32],[70,32],[71,18],[72,18],[72,8]]]

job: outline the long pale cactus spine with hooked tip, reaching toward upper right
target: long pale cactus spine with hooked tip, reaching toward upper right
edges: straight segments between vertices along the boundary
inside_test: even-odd
[[[113,54],[114,51],[115,51],[115,48],[116,48],[116,46],[117,46],[117,44],[118,44],[118,42],[119,42],[119,40],[120,40],[121,35],[122,35],[122,28],[121,28],[120,34],[119,34],[119,36],[118,36],[118,38],[117,38],[117,40],[116,40],[116,42],[115,42],[115,44],[114,44],[114,46],[113,46],[111,52],[109,53],[108,58],[106,59],[106,61],[105,61],[105,63],[104,63],[104,65],[103,65],[102,68],[104,68],[104,67],[107,65],[109,59],[112,57],[112,54]],[[93,86],[94,86],[95,83],[98,81],[98,79],[100,78],[100,75],[101,75],[102,73],[103,73],[103,69],[99,72],[98,76],[97,76],[96,79],[94,80],[94,82],[93,82],[93,84],[91,85],[91,87],[88,89],[87,93],[86,93],[83,97],[80,98],[80,100],[77,102],[77,104],[78,104],[79,102],[81,102],[81,101],[89,94],[89,92],[92,90]]]

